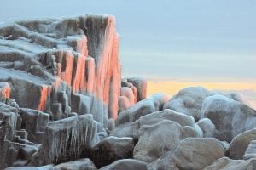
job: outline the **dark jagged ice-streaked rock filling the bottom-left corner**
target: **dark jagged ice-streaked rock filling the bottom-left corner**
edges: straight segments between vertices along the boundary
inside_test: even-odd
[[[27,141],[27,132],[20,127],[19,108],[0,102],[0,169],[24,166],[38,151],[38,145]]]

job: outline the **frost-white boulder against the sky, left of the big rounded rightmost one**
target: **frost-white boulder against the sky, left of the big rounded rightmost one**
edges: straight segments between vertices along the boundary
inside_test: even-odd
[[[183,114],[193,116],[197,122],[201,118],[202,102],[212,95],[210,91],[202,87],[189,87],[180,90],[169,100],[164,109],[172,109]]]

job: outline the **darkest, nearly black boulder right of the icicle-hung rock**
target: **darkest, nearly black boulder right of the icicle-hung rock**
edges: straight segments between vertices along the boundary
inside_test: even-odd
[[[96,144],[92,148],[90,156],[96,167],[100,168],[119,159],[132,158],[133,149],[134,141],[132,138],[110,136]]]

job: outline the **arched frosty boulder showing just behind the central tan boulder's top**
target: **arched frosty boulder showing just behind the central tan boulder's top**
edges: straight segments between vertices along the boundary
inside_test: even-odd
[[[138,130],[143,127],[143,125],[153,125],[155,123],[161,122],[163,120],[169,120],[172,122],[177,122],[181,126],[195,127],[195,120],[192,116],[184,115],[177,111],[172,111],[166,109],[164,111],[156,111],[145,116],[141,116],[137,121],[132,122],[132,136],[133,138],[138,137]]]

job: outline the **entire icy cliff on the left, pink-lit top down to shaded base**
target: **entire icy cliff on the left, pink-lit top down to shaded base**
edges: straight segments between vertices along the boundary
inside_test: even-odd
[[[120,88],[113,16],[0,25],[0,169],[79,158],[114,127]]]

